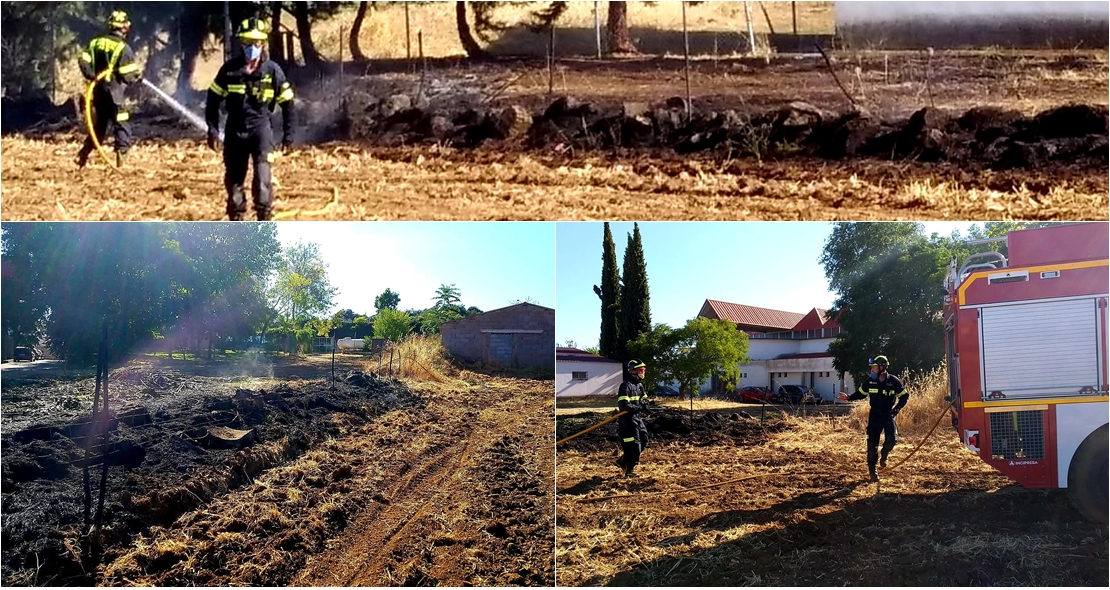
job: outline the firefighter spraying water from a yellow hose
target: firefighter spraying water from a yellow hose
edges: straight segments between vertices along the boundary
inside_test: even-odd
[[[113,10],[108,17],[108,32],[97,37],[89,42],[89,45],[81,52],[78,63],[81,67],[81,74],[88,81],[93,81],[105,70],[103,80],[97,83],[92,91],[92,118],[93,132],[97,141],[103,144],[108,126],[112,125],[115,135],[115,163],[123,165],[123,155],[131,148],[131,113],[123,104],[124,89],[140,80],[142,72],[135,63],[134,52],[128,45],[127,38],[131,31],[131,19],[122,10]],[[95,150],[92,138],[84,140],[84,145],[77,155],[78,166],[84,167],[89,163],[89,155]]]

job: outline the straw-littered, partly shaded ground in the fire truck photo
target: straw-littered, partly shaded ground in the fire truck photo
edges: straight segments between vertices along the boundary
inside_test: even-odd
[[[557,436],[605,413],[557,418]],[[1106,527],[1028,490],[941,427],[902,437],[871,484],[845,418],[760,424],[655,409],[637,477],[615,426],[557,448],[559,586],[1094,586]],[[741,479],[748,478],[748,479]],[[685,491],[689,490],[689,491]]]

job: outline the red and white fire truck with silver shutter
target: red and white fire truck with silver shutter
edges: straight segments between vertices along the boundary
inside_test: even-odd
[[[963,444],[1027,488],[1067,488],[1101,522],[1108,228],[1061,224],[980,241],[1005,242],[1005,253],[952,260],[944,308],[948,399]]]

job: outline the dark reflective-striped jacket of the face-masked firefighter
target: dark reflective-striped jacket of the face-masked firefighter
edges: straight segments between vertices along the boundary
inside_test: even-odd
[[[270,126],[270,113],[281,105],[285,136],[293,129],[293,87],[276,63],[263,59],[253,72],[246,70],[246,59],[232,58],[220,68],[209,87],[204,120],[210,130],[220,129],[220,103],[228,103],[226,134],[252,133]]]

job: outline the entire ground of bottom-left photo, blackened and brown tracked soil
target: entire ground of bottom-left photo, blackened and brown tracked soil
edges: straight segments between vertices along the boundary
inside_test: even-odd
[[[113,373],[117,417],[149,421],[112,431],[123,451],[89,537],[74,425],[91,380],[6,383],[4,584],[554,583],[549,382],[333,388],[313,365],[309,379]],[[255,439],[211,446],[218,426]]]

